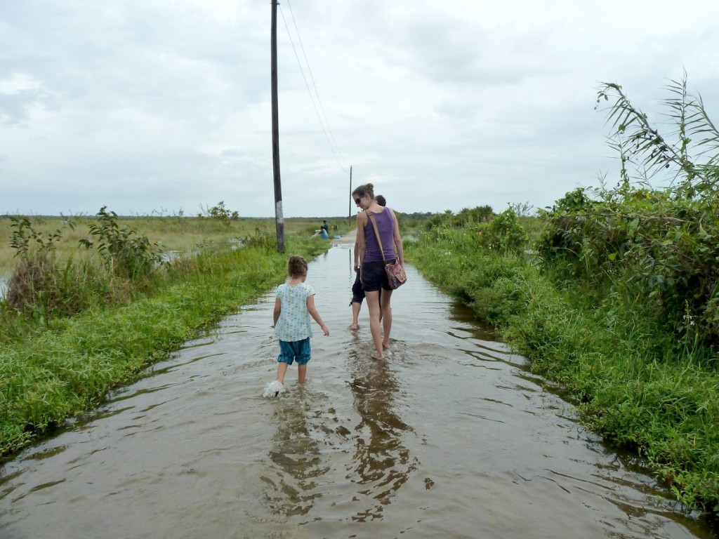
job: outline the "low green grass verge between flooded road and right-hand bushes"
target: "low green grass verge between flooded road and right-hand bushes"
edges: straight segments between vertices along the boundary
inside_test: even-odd
[[[405,252],[495,325],[534,372],[562,384],[586,425],[643,456],[688,507],[718,515],[713,349],[674,336],[621,275],[597,290],[540,268],[532,252],[493,251],[480,234],[452,226],[419,234]]]

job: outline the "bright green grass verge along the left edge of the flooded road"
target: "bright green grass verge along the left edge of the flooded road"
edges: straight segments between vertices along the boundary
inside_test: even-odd
[[[311,259],[329,245],[288,236],[286,251]],[[282,282],[287,256],[274,245],[203,252],[150,277],[132,300],[44,325],[15,318],[17,331],[5,333],[0,350],[0,454],[95,407],[112,387]]]

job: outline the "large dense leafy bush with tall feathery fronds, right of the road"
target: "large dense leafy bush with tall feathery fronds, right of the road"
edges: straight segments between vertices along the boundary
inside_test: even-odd
[[[677,126],[668,142],[634,108],[620,86],[605,84],[620,182],[613,189],[577,189],[543,212],[536,250],[546,270],[596,290],[615,287],[651,305],[682,346],[719,344],[719,131],[686,80],[669,86],[666,103]],[[692,157],[692,150],[695,157]],[[699,159],[703,159],[702,162]],[[636,165],[632,183],[628,167]],[[672,181],[650,188],[649,179]],[[598,297],[599,295],[597,295]]]

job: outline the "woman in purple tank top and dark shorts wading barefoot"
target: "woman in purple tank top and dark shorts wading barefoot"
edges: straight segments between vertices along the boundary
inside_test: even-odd
[[[399,259],[404,265],[404,249],[397,217],[392,208],[380,206],[375,201],[375,186],[371,183],[359,185],[352,191],[354,203],[363,211],[357,214],[357,247],[361,268],[359,277],[362,288],[365,290],[367,308],[370,310],[370,331],[372,341],[375,343],[375,359],[385,359],[385,349],[390,346],[390,332],[392,331],[392,289],[385,272],[385,264]],[[377,241],[375,227],[370,220],[370,213],[377,224],[380,241],[384,251],[380,251],[380,241]],[[397,249],[395,255],[394,249]],[[380,290],[382,290],[380,327]]]

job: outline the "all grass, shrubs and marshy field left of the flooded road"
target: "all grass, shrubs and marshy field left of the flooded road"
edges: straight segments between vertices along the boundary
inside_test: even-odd
[[[2,221],[15,263],[0,300],[4,456],[95,407],[112,387],[285,278],[273,219],[120,218],[101,208],[94,220]],[[336,221],[338,233],[349,229]],[[287,253],[311,259],[329,247],[311,237],[313,224],[285,223]],[[160,262],[162,245],[183,249],[185,235],[201,244]]]

